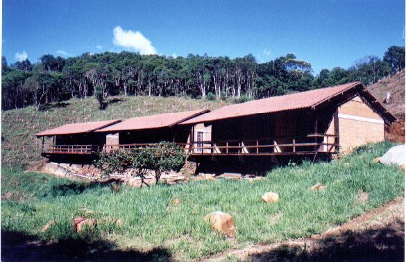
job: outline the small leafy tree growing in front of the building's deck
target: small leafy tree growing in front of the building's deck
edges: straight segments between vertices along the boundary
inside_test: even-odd
[[[185,164],[186,157],[185,150],[176,143],[160,142],[129,151],[117,150],[114,154],[102,152],[95,166],[103,170],[105,177],[133,169],[135,172],[132,175],[144,180],[146,174],[153,171],[158,184],[162,173],[179,170]]]

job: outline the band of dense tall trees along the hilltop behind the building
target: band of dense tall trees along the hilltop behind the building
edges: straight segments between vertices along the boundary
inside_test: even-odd
[[[97,96],[190,96],[192,98],[232,99],[280,96],[355,80],[365,85],[405,68],[405,47],[391,46],[381,59],[366,56],[348,69],[321,70],[316,76],[312,64],[287,54],[269,62],[257,63],[248,54],[226,56],[140,55],[83,53],[62,58],[47,54],[38,62],[28,59],[8,64],[1,59],[1,109],[35,105],[37,110],[69,98]]]

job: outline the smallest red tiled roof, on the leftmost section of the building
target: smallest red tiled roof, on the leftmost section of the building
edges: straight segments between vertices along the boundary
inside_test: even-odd
[[[112,125],[120,122],[121,120],[108,120],[108,121],[97,121],[97,122],[87,122],[87,123],[70,123],[67,125],[62,125],[58,128],[53,128],[49,130],[42,131],[35,134],[37,137],[53,136],[56,134],[81,134],[92,132],[98,130],[99,128],[105,128],[108,125]]]

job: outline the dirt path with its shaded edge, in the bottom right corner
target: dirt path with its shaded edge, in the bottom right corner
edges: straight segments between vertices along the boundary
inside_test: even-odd
[[[307,238],[228,250],[201,261],[404,261],[404,199]]]

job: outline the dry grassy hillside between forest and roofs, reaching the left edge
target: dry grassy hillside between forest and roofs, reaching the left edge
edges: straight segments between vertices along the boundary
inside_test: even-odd
[[[147,96],[117,96],[109,98],[108,107],[99,110],[94,98],[71,99],[62,105],[50,105],[47,110],[34,107],[4,111],[1,114],[2,164],[26,165],[41,159],[40,139],[34,134],[72,122],[128,119],[135,116],[180,112],[209,108],[217,109],[226,103],[191,98],[159,98]],[[24,150],[24,145],[28,148]]]

